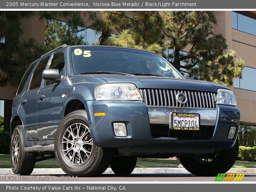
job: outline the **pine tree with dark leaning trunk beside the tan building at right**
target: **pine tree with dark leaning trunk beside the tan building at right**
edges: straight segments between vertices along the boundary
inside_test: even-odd
[[[170,62],[181,72],[200,80],[226,86],[242,76],[244,61],[227,44],[221,34],[214,34],[216,18],[212,11],[162,12],[164,47],[172,49]],[[182,52],[188,50],[186,53]]]

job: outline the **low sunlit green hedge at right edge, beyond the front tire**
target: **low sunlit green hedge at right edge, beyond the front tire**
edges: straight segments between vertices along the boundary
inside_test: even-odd
[[[237,160],[256,161],[256,146],[254,147],[239,146]]]

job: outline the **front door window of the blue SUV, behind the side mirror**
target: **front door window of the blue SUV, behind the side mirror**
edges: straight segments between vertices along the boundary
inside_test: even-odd
[[[64,73],[65,57],[64,52],[59,52],[53,55],[52,62],[50,63],[49,69],[58,69],[60,75]],[[46,85],[56,83],[55,81],[46,80]]]

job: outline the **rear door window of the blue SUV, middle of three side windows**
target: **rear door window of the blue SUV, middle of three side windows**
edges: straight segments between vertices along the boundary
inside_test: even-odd
[[[48,63],[49,58],[50,56],[41,60],[38,66],[36,67],[28,90],[32,90],[40,87],[41,80],[42,80],[42,72],[43,70],[45,70],[46,64]]]

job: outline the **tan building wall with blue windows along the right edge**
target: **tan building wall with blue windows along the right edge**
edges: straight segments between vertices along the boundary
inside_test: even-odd
[[[242,78],[234,79],[232,90],[241,110],[241,123],[256,125],[256,12],[216,11],[215,33],[226,38],[228,49],[236,51],[246,63]]]

